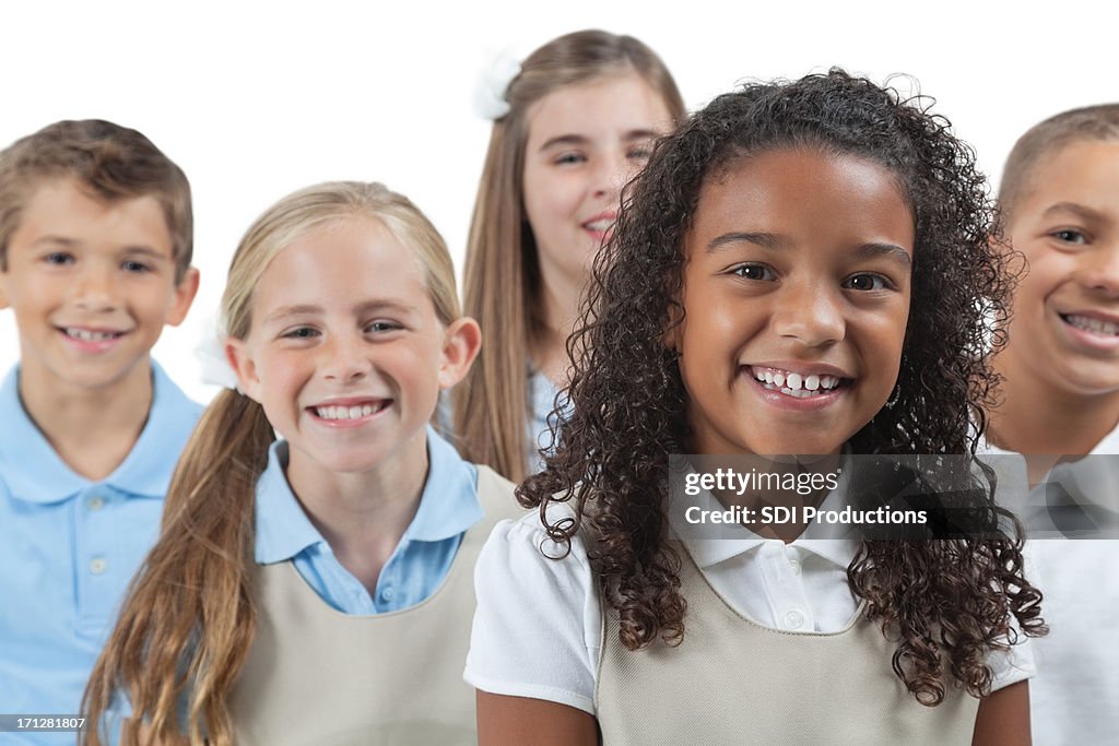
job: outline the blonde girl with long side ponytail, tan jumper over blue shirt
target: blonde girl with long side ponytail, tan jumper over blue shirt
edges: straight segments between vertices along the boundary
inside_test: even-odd
[[[470,570],[513,501],[427,425],[480,344],[442,239],[380,185],[311,187],[248,229],[222,309],[238,390],[179,462],[90,721],[126,700],[128,744],[472,742]]]

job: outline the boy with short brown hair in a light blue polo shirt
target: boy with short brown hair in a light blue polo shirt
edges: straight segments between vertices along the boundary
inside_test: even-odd
[[[154,542],[201,412],[150,358],[198,289],[191,232],[186,177],[134,130],[57,122],[0,152],[20,343],[0,385],[0,718],[77,714]]]

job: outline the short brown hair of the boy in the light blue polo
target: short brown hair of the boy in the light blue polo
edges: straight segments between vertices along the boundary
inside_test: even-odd
[[[55,122],[0,151],[0,270],[8,268],[8,243],[35,188],[64,177],[109,202],[147,195],[159,200],[175,280],[182,280],[194,251],[190,183],[151,140],[103,120]]]

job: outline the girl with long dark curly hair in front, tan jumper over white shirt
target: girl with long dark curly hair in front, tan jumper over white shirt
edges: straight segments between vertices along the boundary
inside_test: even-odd
[[[667,510],[670,454],[974,454],[1010,284],[991,218],[946,120],[841,70],[660,141],[594,265],[556,453],[518,490],[538,513],[476,570],[482,744],[1028,743],[1014,643],[1044,626],[1013,519],[712,541]]]

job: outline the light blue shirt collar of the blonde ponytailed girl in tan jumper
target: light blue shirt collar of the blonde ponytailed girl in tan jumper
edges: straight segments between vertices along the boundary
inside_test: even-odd
[[[420,508],[401,538],[405,541],[441,541],[458,536],[482,518],[477,473],[450,443],[427,427],[427,481]],[[269,451],[269,465],[256,482],[256,561],[262,565],[292,559],[326,539],[303,512],[291,491],[284,468],[288,443],[278,441]]]

